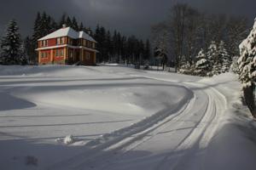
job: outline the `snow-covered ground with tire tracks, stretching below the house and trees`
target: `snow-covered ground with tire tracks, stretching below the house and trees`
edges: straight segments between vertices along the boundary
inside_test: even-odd
[[[240,89],[231,73],[0,66],[0,169],[254,169]]]

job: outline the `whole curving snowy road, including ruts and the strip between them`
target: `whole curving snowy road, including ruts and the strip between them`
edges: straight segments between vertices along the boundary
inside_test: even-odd
[[[172,84],[191,93],[189,100],[181,101],[182,106],[106,134],[87,144],[92,149],[49,169],[204,169],[207,146],[218,129],[226,99],[203,83]]]

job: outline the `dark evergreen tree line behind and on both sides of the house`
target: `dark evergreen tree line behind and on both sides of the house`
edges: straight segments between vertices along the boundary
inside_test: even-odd
[[[21,39],[19,27],[15,20],[10,21],[7,26],[6,35],[3,36],[1,43],[2,51],[5,54],[1,53],[1,58],[4,55],[9,55],[6,50],[9,48],[9,51],[14,51],[15,54],[11,54],[16,57],[20,56],[20,48],[23,48],[23,60],[26,59],[26,63],[37,64],[38,63],[38,54],[35,51],[38,48],[38,39],[48,35],[49,33],[60,29],[63,25],[72,27],[75,31],[85,31],[91,37],[96,39],[96,49],[97,53],[97,62],[115,62],[115,63],[143,63],[147,61],[150,57],[150,42],[149,40],[143,41],[135,36],[126,37],[122,35],[119,31],[109,31],[104,26],[96,26],[96,30],[93,31],[90,27],[84,26],[83,22],[79,22],[74,16],[70,17],[67,14],[62,14],[61,19],[56,21],[52,16],[46,14],[45,12],[39,13],[36,16],[33,24],[32,36]],[[12,25],[15,25],[15,29],[10,29]],[[10,38],[8,35],[16,34],[15,45],[8,44]],[[22,46],[22,47],[21,47]],[[18,50],[19,48],[19,50]],[[5,62],[2,64],[18,64],[17,62],[10,62],[9,59],[5,59]],[[2,59],[4,60],[4,59]],[[23,62],[24,63],[24,62]]]

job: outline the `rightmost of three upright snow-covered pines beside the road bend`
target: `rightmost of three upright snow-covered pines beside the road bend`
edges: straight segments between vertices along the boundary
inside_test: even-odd
[[[218,59],[221,60],[222,63],[222,69],[221,72],[229,72],[230,71],[230,65],[231,65],[231,57],[228,54],[224,41],[221,41],[218,45]]]

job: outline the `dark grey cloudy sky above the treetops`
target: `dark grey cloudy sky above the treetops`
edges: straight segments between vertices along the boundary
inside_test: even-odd
[[[46,11],[55,20],[66,13],[92,29],[100,24],[145,39],[150,36],[150,26],[167,20],[170,8],[178,2],[211,14],[246,16],[252,25],[256,17],[256,0],[0,0],[0,34],[15,19],[21,35],[31,35],[37,12]]]

